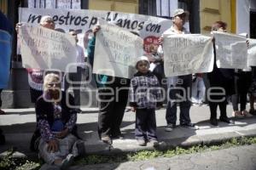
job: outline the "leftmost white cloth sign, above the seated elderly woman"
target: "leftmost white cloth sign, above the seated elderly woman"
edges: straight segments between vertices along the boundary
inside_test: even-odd
[[[42,26],[24,25],[19,30],[22,65],[41,70],[76,71],[67,65],[76,63],[76,42],[68,34]]]

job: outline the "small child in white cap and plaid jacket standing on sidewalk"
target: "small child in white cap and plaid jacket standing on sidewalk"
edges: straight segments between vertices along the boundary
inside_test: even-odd
[[[137,144],[157,146],[155,108],[160,105],[161,91],[157,77],[148,70],[149,61],[140,57],[136,64],[137,73],[131,79],[130,105],[136,111],[135,137]]]

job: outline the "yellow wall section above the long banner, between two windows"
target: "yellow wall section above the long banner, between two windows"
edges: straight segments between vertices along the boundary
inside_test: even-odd
[[[139,0],[89,0],[89,8],[138,14]]]

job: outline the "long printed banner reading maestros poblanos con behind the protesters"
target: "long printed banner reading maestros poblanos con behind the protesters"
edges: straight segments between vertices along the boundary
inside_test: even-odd
[[[59,31],[77,31],[80,45],[83,45],[84,35],[96,26],[98,18],[116,22],[117,26],[128,31],[137,31],[143,39],[160,37],[164,31],[172,26],[172,20],[143,14],[89,9],[19,8],[19,21],[33,26],[37,26],[44,15],[53,17],[55,28]]]

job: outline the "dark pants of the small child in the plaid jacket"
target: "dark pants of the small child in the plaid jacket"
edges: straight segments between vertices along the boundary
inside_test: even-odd
[[[148,141],[157,140],[154,109],[137,109],[135,138]]]

